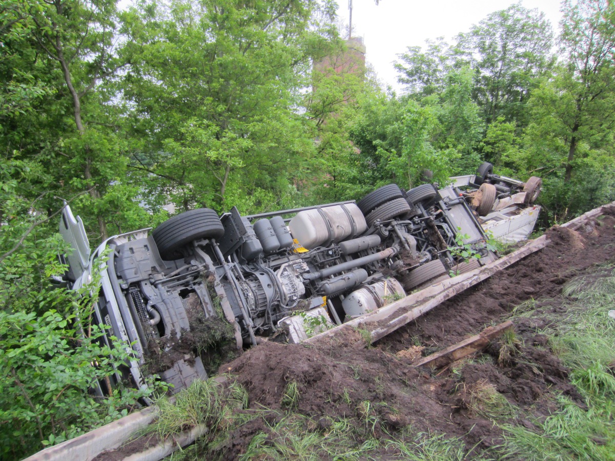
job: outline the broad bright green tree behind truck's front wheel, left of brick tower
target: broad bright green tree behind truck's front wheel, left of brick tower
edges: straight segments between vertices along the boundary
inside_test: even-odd
[[[130,168],[135,181],[147,176],[146,196],[219,211],[287,200],[314,147],[298,107],[311,57],[330,39],[319,12],[306,0],[145,6],[124,96],[140,139]]]

